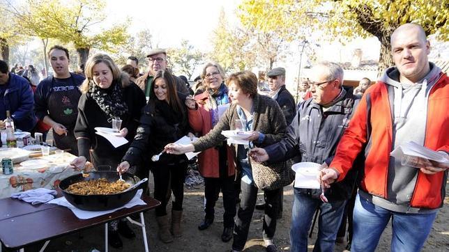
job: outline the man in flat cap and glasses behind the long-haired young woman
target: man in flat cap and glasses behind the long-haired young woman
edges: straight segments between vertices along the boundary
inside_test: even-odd
[[[154,74],[156,74],[159,70],[168,70],[167,52],[165,49],[153,49],[146,55],[146,59],[148,60],[149,71],[139,77],[136,80],[136,84],[142,88],[145,93],[146,100],[148,100],[150,97],[151,81],[153,81]],[[189,90],[187,86],[185,86],[185,82],[174,75],[173,77],[176,81],[176,90],[179,93],[189,95]]]

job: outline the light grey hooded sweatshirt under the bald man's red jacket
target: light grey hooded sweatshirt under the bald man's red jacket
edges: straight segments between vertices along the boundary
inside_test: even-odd
[[[387,84],[393,108],[393,149],[409,141],[424,145],[429,91],[439,79],[441,69],[430,64],[429,73],[416,84],[399,82],[397,68],[388,68],[380,81]],[[393,88],[392,88],[393,87]],[[394,90],[390,92],[390,90]],[[388,166],[388,198],[372,196],[375,205],[395,212],[428,213],[434,210],[409,207],[418,178],[418,169],[402,166],[400,159],[390,157]],[[371,197],[370,197],[371,198]]]

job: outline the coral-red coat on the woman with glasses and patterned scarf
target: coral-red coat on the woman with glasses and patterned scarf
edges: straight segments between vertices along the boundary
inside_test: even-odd
[[[201,136],[208,134],[212,129],[211,112],[208,107],[207,92],[195,96],[198,109],[188,109],[189,123],[194,132],[198,132]],[[227,175],[231,176],[236,173],[234,164],[235,151],[234,148],[227,146]],[[198,155],[199,173],[205,178],[219,178],[220,169],[218,167],[218,149],[210,148],[204,150]]]

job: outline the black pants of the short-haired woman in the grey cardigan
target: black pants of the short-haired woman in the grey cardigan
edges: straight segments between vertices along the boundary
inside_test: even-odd
[[[232,249],[241,251],[245,247],[246,239],[248,239],[248,231],[254,206],[257,201],[257,187],[254,184],[241,182],[241,203],[238,207],[236,225],[234,226],[234,242]],[[263,235],[264,239],[273,239],[276,230],[276,215],[279,206],[279,190],[264,191],[265,215]]]

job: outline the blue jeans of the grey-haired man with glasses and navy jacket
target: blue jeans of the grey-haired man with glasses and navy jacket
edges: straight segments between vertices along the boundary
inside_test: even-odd
[[[291,251],[307,251],[307,235],[317,207],[320,214],[314,251],[333,251],[345,203],[346,200],[329,200],[329,203],[324,203],[319,198],[312,198],[311,195],[303,194],[295,188],[291,210]]]

